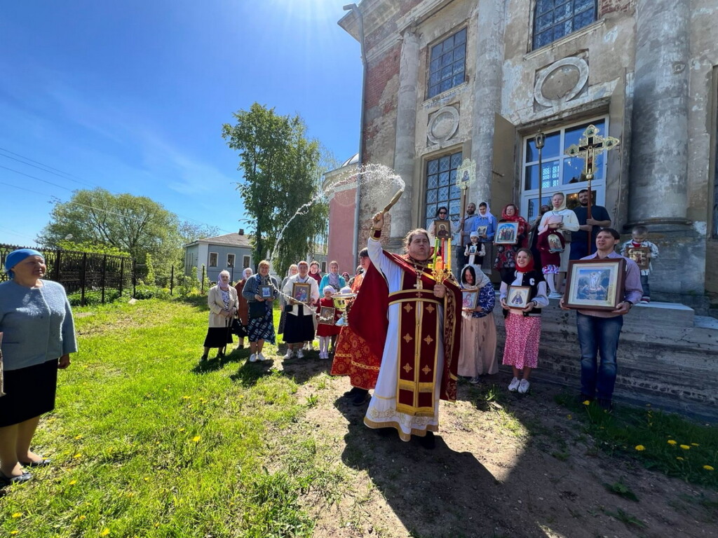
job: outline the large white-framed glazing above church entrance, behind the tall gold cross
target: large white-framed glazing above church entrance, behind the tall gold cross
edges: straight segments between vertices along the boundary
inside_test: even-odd
[[[546,131],[546,142],[541,151],[541,202],[551,205],[551,197],[556,192],[566,194],[567,207],[579,204],[578,192],[586,188],[586,181],[581,181],[584,167],[583,159],[569,157],[564,154],[566,148],[579,143],[579,138],[589,125],[598,128],[601,136],[608,136],[608,118],[595,118],[582,121],[554,131]],[[595,203],[605,205],[606,187],[606,154],[602,153],[595,159],[596,172],[591,181],[595,192]],[[538,149],[534,135],[523,139],[523,166],[521,174],[521,214],[528,220],[538,215]]]

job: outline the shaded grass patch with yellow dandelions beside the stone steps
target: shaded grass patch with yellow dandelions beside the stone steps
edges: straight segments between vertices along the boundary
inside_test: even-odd
[[[622,405],[612,413],[563,394],[559,404],[582,421],[584,433],[606,453],[628,456],[645,468],[718,489],[718,432],[679,415]],[[589,447],[593,450],[593,447]]]

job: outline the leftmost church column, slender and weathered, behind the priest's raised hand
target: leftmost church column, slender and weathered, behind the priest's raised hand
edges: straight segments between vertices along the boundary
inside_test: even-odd
[[[391,237],[403,239],[413,228],[414,165],[416,163],[416,95],[419,84],[419,37],[409,29],[404,32],[399,60],[399,93],[396,103],[396,146],[394,171],[404,179],[406,189],[391,209]],[[401,243],[401,241],[399,241]]]

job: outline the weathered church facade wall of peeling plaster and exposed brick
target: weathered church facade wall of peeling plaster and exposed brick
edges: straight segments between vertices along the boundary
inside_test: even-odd
[[[505,179],[500,181],[500,184],[493,178],[491,194],[497,199],[510,196],[518,198],[518,193],[521,192],[518,178],[521,177],[523,136],[534,133],[538,126],[546,129],[607,114],[610,127],[608,133],[602,134],[620,138],[621,145],[612,151],[608,159],[605,200],[602,202],[611,214],[615,227],[621,229],[630,224],[630,164],[632,151],[634,156],[637,151],[632,148],[632,138],[633,131],[641,128],[640,113],[633,117],[637,113],[637,110],[634,110],[634,96],[638,82],[635,73],[638,47],[636,9],[637,6],[651,5],[653,1],[669,0],[599,0],[595,23],[546,47],[532,50],[535,0],[505,0],[503,40],[497,44],[498,47],[503,47],[497,111],[508,121],[507,127],[515,128],[515,140],[513,148],[505,147],[506,134],[510,134],[510,129],[503,129],[500,141],[498,134],[495,134],[493,146],[478,148],[474,131],[477,125],[480,125],[477,122],[485,121],[485,118],[475,118],[479,114],[476,100],[480,92],[477,92],[477,88],[480,89],[478,85],[482,84],[482,62],[477,58],[477,50],[480,48],[479,37],[483,39],[486,36],[486,29],[482,29],[481,25],[488,24],[479,10],[482,5],[493,4],[485,0],[364,0],[360,7],[365,14],[369,62],[364,103],[363,157],[365,162],[394,166],[397,141],[405,144],[406,136],[414,137],[413,167],[406,166],[406,157],[401,161],[405,169],[411,171],[411,179],[404,178],[408,180],[407,183],[410,181],[411,185],[410,205],[402,209],[401,220],[411,220],[411,227],[423,222],[424,168],[427,159],[454,151],[463,151],[465,158],[468,158],[483,149],[495,156],[497,148],[494,146],[500,144],[500,151],[514,154],[514,168],[508,176],[504,176]],[[662,249],[663,262],[655,264],[652,288],[659,294],[663,288],[666,298],[675,293],[702,293],[707,278],[706,230],[712,211],[714,173],[710,163],[714,158],[711,154],[715,151],[716,136],[716,110],[712,104],[712,88],[714,67],[718,65],[718,39],[714,35],[715,29],[718,28],[718,4],[715,0],[687,1],[690,2],[690,39],[687,65],[688,155],[685,188],[688,204],[686,217],[692,224],[681,232],[681,237],[663,237],[660,233],[654,237],[658,242],[662,242],[659,246]],[[342,25],[355,35],[355,24],[347,21]],[[432,44],[462,27],[467,28],[467,81],[435,98],[426,99],[429,49]],[[655,39],[665,39],[661,31],[661,27],[656,28]],[[415,82],[416,115],[411,118],[413,127],[406,126],[406,114],[398,118],[397,110],[398,93],[402,87],[400,64],[405,32],[411,32],[411,39],[419,41],[418,57],[415,58],[418,62],[418,78]],[[553,105],[539,104],[535,96],[538,77],[554,62],[571,57],[580,58],[587,65],[587,80],[582,88],[576,95],[556,100]],[[406,57],[405,49],[404,61],[409,60],[411,59]],[[416,70],[411,76],[416,77]],[[414,84],[413,80],[407,82],[406,78],[404,82],[404,88]],[[432,138],[429,136],[432,118],[447,107],[457,113],[457,126],[450,136]],[[634,123],[638,123],[638,126]],[[401,133],[397,133],[397,126],[401,126]],[[414,133],[408,132],[411,130]],[[660,141],[656,147],[660,148],[661,144],[666,143],[670,141]],[[512,175],[513,178],[510,177]],[[660,180],[658,177],[657,181]],[[500,192],[497,189],[500,189]],[[475,198],[477,191],[475,185],[470,189],[468,199]],[[645,192],[640,193],[639,198],[643,200],[643,197]],[[671,193],[666,189],[656,189],[654,198],[658,217],[662,216],[659,211],[661,197],[671,197]],[[668,200],[670,199],[666,198],[666,201]],[[634,196],[634,207],[635,202]],[[379,209],[379,204],[381,201],[372,199],[370,194],[364,194],[360,204],[360,221],[363,227],[368,227],[370,217]],[[409,224],[401,222],[401,226],[391,227],[392,235],[400,227],[403,229],[407,225]],[[366,230],[361,237],[365,237],[365,232]],[[398,237],[393,238],[393,242],[396,243],[397,240]],[[676,272],[681,266],[680,260],[689,260],[691,270],[694,270],[691,282],[682,282],[686,280],[684,275]],[[663,283],[668,284],[663,286]]]

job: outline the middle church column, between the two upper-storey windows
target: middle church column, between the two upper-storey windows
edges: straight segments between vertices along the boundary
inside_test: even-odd
[[[476,21],[477,47],[473,80],[474,118],[471,143],[471,158],[476,163],[476,182],[471,187],[472,192],[469,196],[471,202],[478,204],[491,197],[495,117],[501,110],[504,2],[479,0]]]

